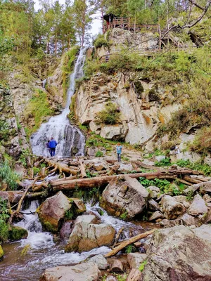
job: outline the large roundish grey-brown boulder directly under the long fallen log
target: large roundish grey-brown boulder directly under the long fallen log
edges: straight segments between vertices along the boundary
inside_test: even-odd
[[[114,178],[107,185],[101,197],[101,207],[112,216],[124,216],[131,220],[137,214],[141,214],[146,207],[148,191],[136,180],[125,176]]]

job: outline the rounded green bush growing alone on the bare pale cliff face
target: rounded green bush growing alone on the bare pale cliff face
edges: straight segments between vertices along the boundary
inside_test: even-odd
[[[103,124],[117,124],[120,118],[120,112],[117,110],[117,105],[115,103],[107,103],[105,110],[98,112],[97,114],[98,122]]]

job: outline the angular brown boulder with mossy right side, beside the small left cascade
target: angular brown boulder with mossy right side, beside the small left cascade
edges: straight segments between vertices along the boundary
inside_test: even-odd
[[[70,200],[60,191],[56,195],[47,198],[37,209],[37,213],[41,224],[46,230],[56,233],[63,222],[66,211],[70,208]]]

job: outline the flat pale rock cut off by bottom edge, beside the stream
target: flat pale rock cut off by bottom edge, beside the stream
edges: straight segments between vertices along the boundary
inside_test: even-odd
[[[96,263],[81,263],[77,266],[47,268],[39,281],[98,281],[101,272]]]

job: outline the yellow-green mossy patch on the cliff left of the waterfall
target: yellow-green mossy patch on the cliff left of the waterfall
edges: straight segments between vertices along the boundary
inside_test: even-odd
[[[35,122],[34,126],[28,128],[28,133],[32,134],[37,131],[43,117],[51,115],[53,115],[53,110],[50,108],[46,92],[37,89],[25,110],[25,121],[28,122],[29,119],[34,119]]]

